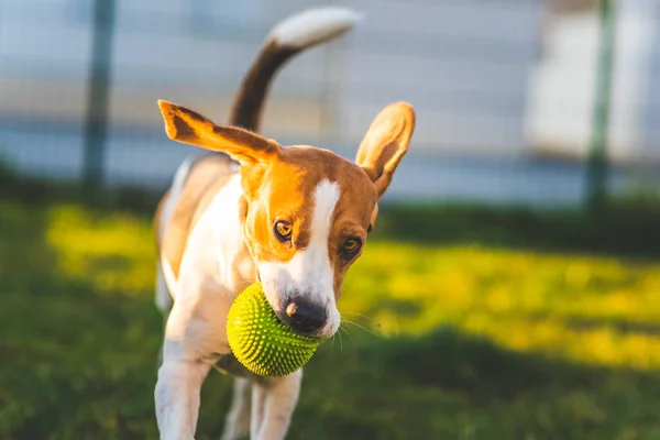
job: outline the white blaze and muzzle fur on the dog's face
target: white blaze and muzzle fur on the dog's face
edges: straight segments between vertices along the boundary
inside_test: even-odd
[[[258,263],[266,298],[282,310],[283,299],[297,290],[312,304],[326,306],[328,322],[321,336],[331,336],[339,328],[340,315],[334,301],[334,268],[328,255],[328,239],[332,226],[332,212],[339,200],[339,186],[322,180],[314,193],[314,213],[307,248],[286,263]]]

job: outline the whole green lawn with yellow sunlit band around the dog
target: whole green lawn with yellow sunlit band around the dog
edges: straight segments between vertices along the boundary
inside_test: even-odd
[[[156,438],[150,218],[54,200],[0,195],[0,438]],[[383,209],[289,438],[660,439],[658,226]],[[229,398],[212,372],[198,438]]]

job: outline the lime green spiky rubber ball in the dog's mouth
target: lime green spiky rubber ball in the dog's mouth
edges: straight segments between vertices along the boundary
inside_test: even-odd
[[[261,283],[243,290],[229,309],[229,346],[237,360],[254,374],[279,377],[305,365],[319,340],[296,333],[277,318]]]

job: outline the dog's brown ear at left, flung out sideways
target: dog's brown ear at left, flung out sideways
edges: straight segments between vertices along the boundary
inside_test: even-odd
[[[266,161],[280,151],[275,141],[246,130],[216,125],[209,119],[185,107],[164,100],[158,100],[158,107],[169,139],[227,153],[241,165]]]

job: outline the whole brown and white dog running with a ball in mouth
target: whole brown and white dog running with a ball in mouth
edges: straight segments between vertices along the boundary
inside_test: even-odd
[[[237,376],[224,438],[285,437],[301,371],[256,377],[235,362],[227,342],[229,308],[251,283],[263,283],[275,312],[295,330],[329,338],[339,329],[344,274],[408,148],[415,112],[405,102],[386,107],[355,163],[312,146],[285,147],[255,132],[277,69],[355,21],[349,10],[323,8],[277,25],[242,84],[229,125],[158,101],[170,139],[215,152],[179,167],[155,218],[156,304],[167,318],[155,388],[163,439],[194,438],[201,384],[213,366]]]

